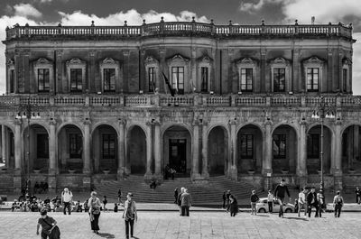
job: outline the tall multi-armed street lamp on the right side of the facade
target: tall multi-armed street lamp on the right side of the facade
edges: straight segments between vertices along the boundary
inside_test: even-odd
[[[328,102],[325,102],[324,97],[320,97],[319,106],[313,110],[311,118],[313,119],[320,119],[321,120],[321,145],[320,145],[320,152],[319,152],[319,161],[321,164],[321,181],[319,184],[319,189],[322,189],[322,194],[324,193],[324,180],[323,180],[323,123],[324,119],[332,119],[335,118],[335,110],[334,106],[331,106]]]

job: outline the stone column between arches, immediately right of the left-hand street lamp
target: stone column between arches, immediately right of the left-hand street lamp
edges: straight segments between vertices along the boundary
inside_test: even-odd
[[[56,174],[58,172],[57,169],[57,161],[56,161],[56,121],[51,120],[51,131],[49,135],[49,191],[55,192],[56,190]]]

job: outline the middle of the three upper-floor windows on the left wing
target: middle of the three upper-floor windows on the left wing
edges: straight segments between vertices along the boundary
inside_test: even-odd
[[[87,63],[79,58],[67,61],[67,72],[70,92],[82,92],[85,86]]]

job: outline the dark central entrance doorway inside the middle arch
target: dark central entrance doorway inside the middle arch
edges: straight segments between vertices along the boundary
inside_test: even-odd
[[[169,140],[169,162],[170,167],[178,172],[187,171],[187,140]]]

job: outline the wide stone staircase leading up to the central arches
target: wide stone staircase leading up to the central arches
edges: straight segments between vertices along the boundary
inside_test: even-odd
[[[94,186],[99,198],[106,195],[112,201],[116,200],[118,189],[122,190],[122,200],[127,192],[134,194],[134,199],[142,203],[172,203],[174,188],[188,188],[192,196],[193,205],[220,205],[224,190],[231,190],[236,198],[248,198],[252,189],[261,188],[245,182],[235,182],[225,176],[210,177],[208,182],[192,183],[190,178],[176,178],[163,180],[162,184],[153,189],[144,182],[143,176],[131,175],[128,178],[116,180],[95,181]]]

